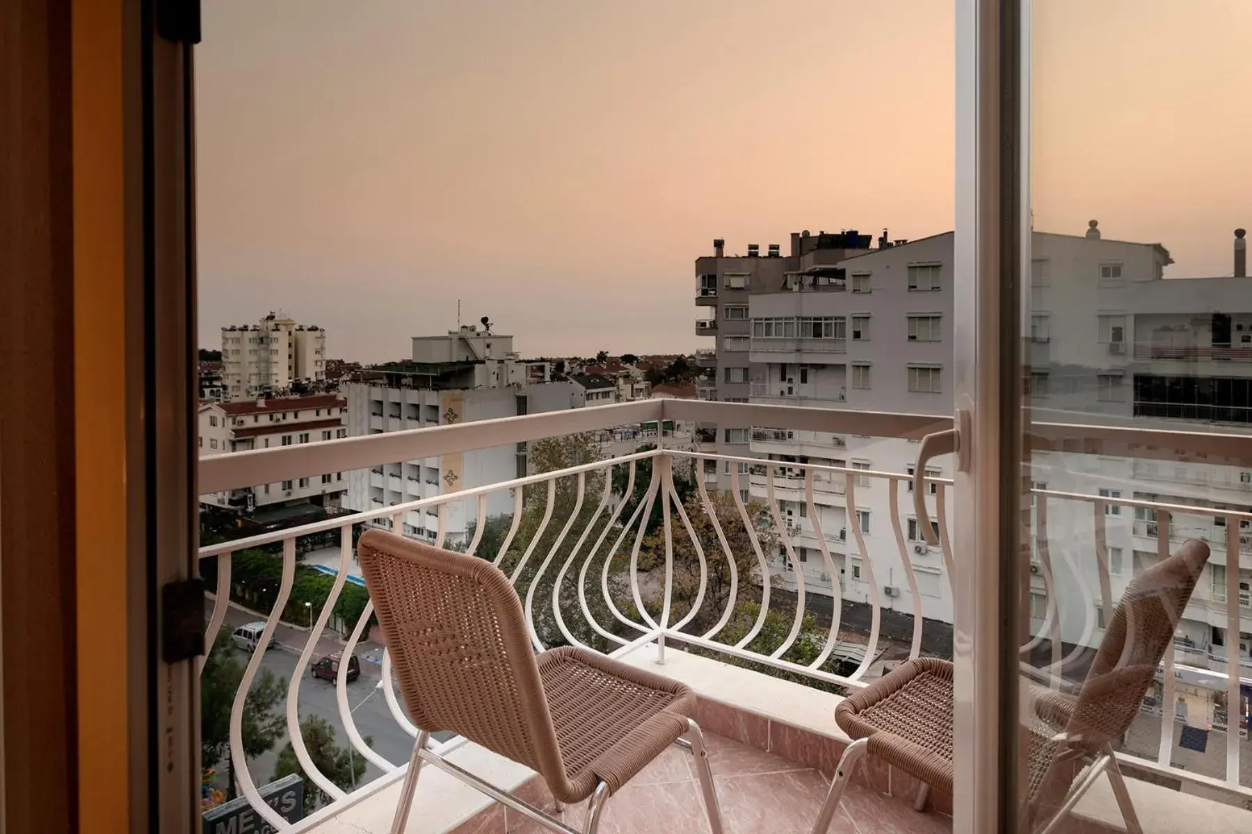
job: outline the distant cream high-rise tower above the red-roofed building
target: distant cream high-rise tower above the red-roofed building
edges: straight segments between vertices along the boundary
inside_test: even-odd
[[[222,328],[222,386],[228,401],[324,379],[326,330],[316,324],[270,313],[259,324]]]

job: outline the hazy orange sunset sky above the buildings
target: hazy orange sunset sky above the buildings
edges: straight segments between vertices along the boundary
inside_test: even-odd
[[[1037,0],[1033,34],[1035,228],[1229,273],[1252,3]],[[692,349],[715,236],[952,229],[954,54],[948,0],[213,0],[200,344],[282,309],[394,359],[461,299],[523,355]]]

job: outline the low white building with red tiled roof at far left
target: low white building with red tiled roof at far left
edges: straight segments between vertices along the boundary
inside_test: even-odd
[[[347,405],[338,394],[202,403],[198,415],[200,456],[344,438]],[[347,489],[343,473],[326,473],[202,495],[200,503],[239,514],[297,504],[334,508]]]

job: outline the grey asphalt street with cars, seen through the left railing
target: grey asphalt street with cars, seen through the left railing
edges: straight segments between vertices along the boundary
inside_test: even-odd
[[[255,615],[249,614],[248,611],[232,608],[227,611],[225,620],[222,624],[222,630],[229,633],[239,625],[254,621],[255,619]],[[295,661],[299,660],[299,651],[303,650],[307,639],[307,631],[292,629],[280,624],[274,636],[275,644],[265,651],[264,658],[262,659],[262,669],[268,669],[275,678],[278,678],[283,683],[284,691],[287,684],[292,679],[292,673],[295,670]],[[238,651],[237,649],[234,650],[237,651],[237,656],[247,663],[248,655],[243,651]],[[317,660],[323,655],[338,650],[338,640],[334,635],[331,638],[323,638],[318,644],[318,651],[309,659],[309,666],[317,663]],[[408,761],[408,756],[413,750],[413,738],[396,723],[391,710],[387,708],[387,700],[381,686],[382,669],[379,661],[382,656],[382,646],[378,644],[362,644],[357,648],[356,654],[361,660],[361,676],[347,684],[347,686],[348,708],[352,711],[353,720],[356,721],[357,731],[362,738],[372,741],[372,749],[381,756],[392,764],[401,765]],[[304,670],[304,680],[299,688],[297,709],[300,719],[304,719],[308,715],[317,715],[329,721],[331,726],[334,728],[336,743],[339,744],[339,746],[347,748],[351,745],[351,741],[348,740],[347,731],[343,729],[343,721],[339,719],[339,704],[336,689],[337,686],[334,683],[314,678],[312,670],[307,668]],[[397,698],[399,698],[403,704],[398,686],[396,693]],[[285,714],[285,695],[274,709],[279,715]],[[437,733],[436,738],[443,740],[451,735],[451,733]],[[287,740],[288,735],[287,733],[283,733],[282,738],[273,746],[273,749],[260,756],[257,756],[255,759],[248,760],[248,771],[252,774],[254,784],[259,786],[270,781],[270,776],[274,774],[274,764],[278,760],[278,753],[287,744]],[[235,765],[238,768],[238,763],[235,763]],[[223,789],[225,788],[224,770],[224,766],[219,768],[218,779],[218,786]],[[379,770],[373,763],[367,761],[366,773],[362,775],[358,784],[364,784],[381,775],[382,770]]]

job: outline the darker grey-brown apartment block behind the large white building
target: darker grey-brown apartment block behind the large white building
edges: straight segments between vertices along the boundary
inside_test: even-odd
[[[695,301],[707,308],[707,316],[696,319],[696,335],[711,336],[712,348],[696,351],[702,373],[696,380],[701,399],[746,403],[751,394],[751,321],[749,299],[777,293],[790,274],[808,274],[815,286],[829,286],[835,266],[848,255],[868,250],[870,236],[855,230],[816,235],[808,230],[793,233],[789,254],[781,244],[769,244],[761,256],[759,244],[747,244],[745,255],[726,255],[726,241],[712,241],[714,254],[696,259]],[[704,446],[719,454],[746,455],[751,426],[700,426]],[[710,485],[730,488],[730,473],[710,470]]]

